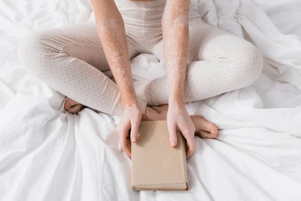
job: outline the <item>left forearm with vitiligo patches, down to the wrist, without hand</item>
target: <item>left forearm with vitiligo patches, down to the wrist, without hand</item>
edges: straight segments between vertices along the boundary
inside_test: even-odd
[[[97,32],[120,91],[123,108],[137,103],[122,17],[113,0],[92,0]]]

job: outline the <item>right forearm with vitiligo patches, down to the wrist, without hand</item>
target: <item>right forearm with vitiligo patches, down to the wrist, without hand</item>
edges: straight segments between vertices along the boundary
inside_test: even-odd
[[[168,0],[162,18],[169,100],[185,105],[185,77],[189,42],[189,0]]]

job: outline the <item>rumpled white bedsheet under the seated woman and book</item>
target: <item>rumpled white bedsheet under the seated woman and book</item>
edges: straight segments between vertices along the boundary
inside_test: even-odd
[[[199,8],[209,24],[251,40],[264,70],[251,86],[187,104],[219,129],[217,140],[196,138],[191,190],[138,192],[112,133],[119,119],[61,112],[64,96],[17,60],[26,34],[88,20],[88,1],[1,1],[0,200],[301,200],[301,2],[204,0]],[[134,58],[132,71],[140,81],[165,73],[152,55]]]

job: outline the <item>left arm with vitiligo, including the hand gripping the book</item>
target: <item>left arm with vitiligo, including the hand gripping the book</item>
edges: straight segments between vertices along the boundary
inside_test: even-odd
[[[131,157],[128,132],[130,130],[131,142],[136,142],[143,111],[140,111],[134,90],[123,19],[113,0],[91,1],[100,42],[120,91],[124,109],[115,132],[119,135],[122,150]]]

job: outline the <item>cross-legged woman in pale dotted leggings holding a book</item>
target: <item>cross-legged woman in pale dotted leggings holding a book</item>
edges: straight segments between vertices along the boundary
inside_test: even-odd
[[[262,56],[251,43],[205,24],[189,0],[92,0],[95,24],[80,24],[28,37],[19,58],[33,75],[69,97],[65,110],[84,106],[121,116],[116,128],[130,157],[142,120],[167,119],[170,144],[176,129],[187,140],[215,138],[217,128],[189,116],[192,102],[251,84],[262,69]],[[167,76],[133,84],[130,58],[151,53],[165,60]],[[102,71],[111,69],[116,83]],[[147,106],[146,106],[147,105]],[[153,107],[158,106],[158,107]]]

